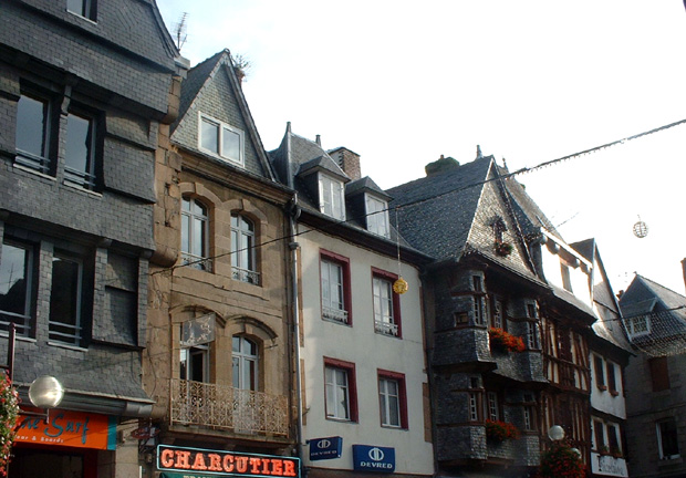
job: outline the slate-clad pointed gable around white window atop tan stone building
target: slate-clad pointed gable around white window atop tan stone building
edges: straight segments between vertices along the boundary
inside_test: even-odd
[[[207,114],[241,129],[245,134],[245,165],[248,174],[270,180],[274,172],[264,152],[262,141],[248,107],[248,102],[236,75],[229,50],[222,50],[190,69],[181,82],[179,116],[172,125],[172,141],[195,154],[218,160],[198,148],[198,114]],[[227,167],[240,166],[221,162]]]

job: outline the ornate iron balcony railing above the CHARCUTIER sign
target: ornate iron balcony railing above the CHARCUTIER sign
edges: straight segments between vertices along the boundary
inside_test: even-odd
[[[173,378],[170,424],[241,434],[288,435],[285,396]]]

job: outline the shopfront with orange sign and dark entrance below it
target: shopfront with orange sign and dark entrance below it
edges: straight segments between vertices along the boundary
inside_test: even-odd
[[[21,416],[9,478],[96,478],[98,460],[116,449],[116,417],[50,411],[42,417]]]

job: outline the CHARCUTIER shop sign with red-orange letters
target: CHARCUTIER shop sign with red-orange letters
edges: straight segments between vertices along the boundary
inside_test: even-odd
[[[300,477],[300,459],[224,450],[157,446],[157,469],[180,471],[174,478]],[[199,475],[197,475],[199,474]]]

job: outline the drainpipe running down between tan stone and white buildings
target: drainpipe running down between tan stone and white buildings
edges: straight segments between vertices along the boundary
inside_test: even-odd
[[[298,232],[295,224],[300,217],[300,206],[298,206],[298,194],[293,195],[293,200],[290,207],[289,226],[291,232],[291,240],[289,242],[289,249],[291,250],[291,306],[293,308],[293,344],[295,347],[295,402],[298,408],[298,429],[295,432],[295,438],[298,440],[298,458],[300,463],[303,463],[302,450],[302,380],[300,370],[300,304],[298,301],[298,249],[300,245],[295,241],[295,235]],[[303,469],[303,476],[306,476],[306,471]]]

